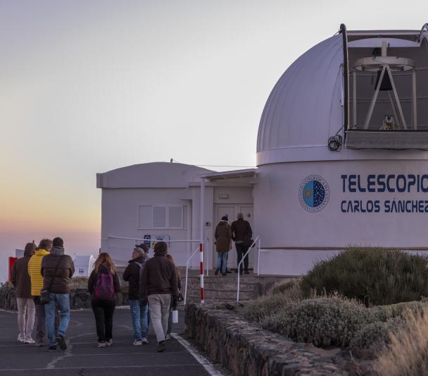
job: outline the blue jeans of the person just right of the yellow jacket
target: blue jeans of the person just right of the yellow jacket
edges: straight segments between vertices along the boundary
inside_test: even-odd
[[[55,314],[58,307],[60,320],[58,331],[55,331]],[[49,346],[56,345],[56,336],[64,336],[70,322],[70,294],[49,293],[49,302],[44,305],[46,314],[46,329],[48,332]],[[55,333],[56,332],[56,333]]]

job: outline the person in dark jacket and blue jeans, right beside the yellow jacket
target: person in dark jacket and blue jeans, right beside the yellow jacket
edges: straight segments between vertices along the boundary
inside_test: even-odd
[[[54,238],[51,253],[42,260],[43,290],[49,290],[49,302],[44,305],[49,339],[48,351],[56,351],[56,344],[61,350],[67,348],[64,335],[70,322],[70,278],[74,272],[73,260],[69,255],[64,255],[63,239]],[[60,311],[60,322],[56,332],[57,308]]]

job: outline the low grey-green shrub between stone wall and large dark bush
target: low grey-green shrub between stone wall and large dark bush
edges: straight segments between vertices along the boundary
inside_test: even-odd
[[[262,326],[293,341],[344,347],[373,319],[364,305],[336,296],[295,303],[289,310],[266,317]]]

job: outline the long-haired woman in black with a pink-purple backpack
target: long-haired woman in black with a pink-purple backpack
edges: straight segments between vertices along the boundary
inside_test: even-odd
[[[113,344],[113,313],[116,306],[116,293],[120,282],[115,265],[108,253],[100,253],[94,270],[88,280],[88,291],[92,296],[92,310],[96,323],[98,347]]]

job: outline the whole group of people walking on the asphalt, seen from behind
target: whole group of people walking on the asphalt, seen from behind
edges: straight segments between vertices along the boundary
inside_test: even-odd
[[[180,271],[168,254],[167,243],[156,243],[154,257],[150,258],[148,253],[146,244],[137,245],[123,274],[123,279],[129,282],[133,344],[149,343],[147,332],[151,321],[158,351],[165,351],[172,310],[181,295]],[[25,245],[24,257],[11,270],[18,305],[18,341],[45,346],[47,333],[48,351],[56,351],[57,346],[62,350],[67,348],[65,332],[70,322],[70,279],[74,272],[73,260],[64,253],[62,238],[42,239],[38,247],[34,242]],[[100,253],[96,259],[88,279],[88,292],[92,298],[97,346],[111,346],[120,279],[108,253]],[[32,339],[34,326],[35,339]]]

